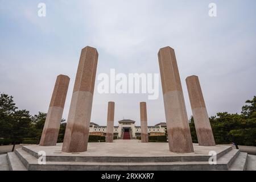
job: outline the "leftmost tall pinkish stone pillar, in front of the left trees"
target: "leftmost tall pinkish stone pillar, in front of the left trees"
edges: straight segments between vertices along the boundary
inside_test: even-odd
[[[57,76],[40,139],[40,146],[55,146],[57,143],[69,80],[69,77],[65,75]]]

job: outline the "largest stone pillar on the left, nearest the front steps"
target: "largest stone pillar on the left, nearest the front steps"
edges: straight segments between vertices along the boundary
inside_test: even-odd
[[[97,62],[96,48],[85,47],[82,49],[69,108],[63,152],[87,150]]]

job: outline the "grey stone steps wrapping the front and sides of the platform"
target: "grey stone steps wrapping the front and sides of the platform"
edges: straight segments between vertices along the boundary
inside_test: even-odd
[[[46,164],[38,164],[38,154],[23,146],[15,152],[0,155],[0,162],[5,160],[10,170],[106,170],[106,171],[170,171],[170,170],[256,170],[256,156],[250,156],[240,150],[226,148],[217,154],[217,164],[208,163],[209,156],[47,156]],[[247,166],[247,163],[250,166]],[[1,164],[0,170],[3,170]],[[6,168],[6,167],[5,167]]]

